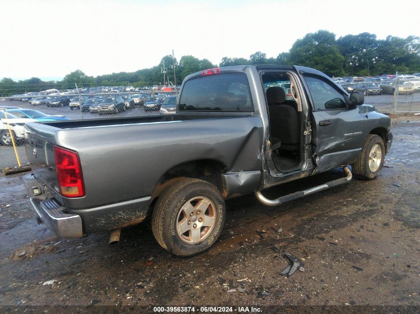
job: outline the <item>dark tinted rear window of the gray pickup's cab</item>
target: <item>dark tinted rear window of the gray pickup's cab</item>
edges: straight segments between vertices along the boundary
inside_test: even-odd
[[[245,73],[226,73],[186,81],[179,111],[253,112]]]

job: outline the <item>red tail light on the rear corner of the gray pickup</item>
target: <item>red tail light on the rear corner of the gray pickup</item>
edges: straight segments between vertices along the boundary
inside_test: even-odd
[[[84,196],[82,167],[78,153],[54,146],[54,155],[61,194],[64,197]]]

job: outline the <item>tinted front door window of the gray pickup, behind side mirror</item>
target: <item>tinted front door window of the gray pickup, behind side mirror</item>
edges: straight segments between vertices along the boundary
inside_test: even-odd
[[[343,94],[326,81],[314,76],[305,76],[305,81],[311,93],[315,111],[346,108]]]

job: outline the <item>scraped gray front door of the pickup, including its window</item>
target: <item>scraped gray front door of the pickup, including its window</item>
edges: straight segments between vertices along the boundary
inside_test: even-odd
[[[298,71],[312,105],[314,173],[353,162],[361,151],[364,114],[348,109],[348,95],[325,74],[307,68]]]

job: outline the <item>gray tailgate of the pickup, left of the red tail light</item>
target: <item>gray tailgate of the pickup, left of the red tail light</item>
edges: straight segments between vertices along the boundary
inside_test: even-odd
[[[55,132],[59,128],[40,123],[25,124],[25,150],[32,173],[62,201],[55,168]]]

